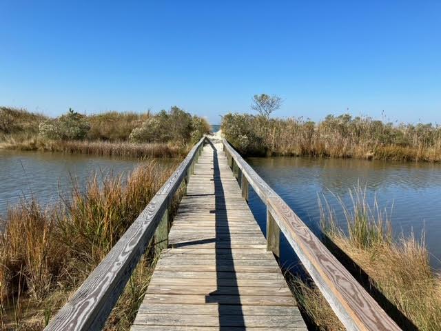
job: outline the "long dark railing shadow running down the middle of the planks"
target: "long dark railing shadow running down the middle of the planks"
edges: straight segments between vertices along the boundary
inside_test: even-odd
[[[223,190],[223,184],[220,180],[220,168],[218,162],[218,153],[212,142],[209,141],[209,145],[213,148],[213,168],[214,168],[214,192],[215,192],[215,228],[216,239],[223,237],[225,233],[228,234],[229,240],[216,240],[215,252],[216,252],[216,283],[217,290],[210,293],[205,297],[207,303],[218,303],[218,318],[219,318],[219,330],[231,330],[234,325],[235,330],[243,328],[245,330],[245,320],[243,319],[242,306],[240,305],[240,296],[238,292],[238,283],[236,272],[234,271],[234,260],[231,247],[231,233],[229,232],[227,209],[225,203],[225,192]],[[222,229],[218,225],[222,225]],[[222,231],[222,232],[220,232]],[[218,250],[222,249],[223,254],[219,254]],[[229,260],[232,267],[232,272],[229,272],[228,281],[223,279],[225,277],[224,272],[219,268],[222,265],[221,260]],[[225,292],[222,291],[223,284],[228,283],[228,304],[225,304]]]

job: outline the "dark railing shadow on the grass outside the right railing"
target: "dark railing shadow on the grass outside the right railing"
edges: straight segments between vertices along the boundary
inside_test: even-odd
[[[351,273],[360,285],[373,297],[380,307],[395,321],[402,330],[418,331],[416,325],[408,319],[397,306],[391,303],[387,297],[372,283],[369,274],[363,270],[349,255],[341,250],[326,234],[322,233],[322,241],[342,265]]]

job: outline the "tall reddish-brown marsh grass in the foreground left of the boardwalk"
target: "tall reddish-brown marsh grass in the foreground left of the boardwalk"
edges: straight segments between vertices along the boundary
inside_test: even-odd
[[[50,210],[37,201],[22,201],[10,209],[0,237],[2,330],[42,330],[171,173],[172,168],[147,160],[127,178],[92,177],[85,192],[76,188]],[[149,250],[106,330],[128,328],[154,263]]]

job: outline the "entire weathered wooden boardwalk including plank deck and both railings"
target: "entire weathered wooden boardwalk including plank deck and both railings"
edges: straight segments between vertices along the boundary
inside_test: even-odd
[[[249,186],[266,206],[267,239],[243,199]],[[102,330],[152,242],[161,255],[133,331],[306,330],[273,257],[281,233],[346,330],[401,330],[220,132],[193,146],[45,330]]]

